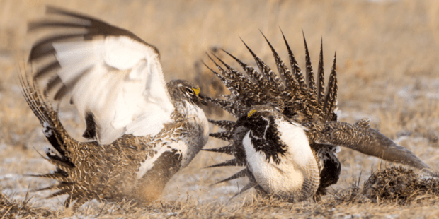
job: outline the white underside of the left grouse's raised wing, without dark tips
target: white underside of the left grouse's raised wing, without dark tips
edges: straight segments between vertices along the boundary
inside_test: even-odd
[[[62,69],[59,78],[69,88],[81,117],[89,112],[97,124],[99,143],[123,134],[155,135],[171,122],[174,111],[152,47],[127,36],[53,43]]]

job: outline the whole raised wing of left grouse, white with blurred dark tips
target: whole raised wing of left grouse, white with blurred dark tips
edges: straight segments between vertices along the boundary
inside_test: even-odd
[[[71,97],[86,121],[84,137],[107,144],[123,134],[156,134],[171,121],[174,106],[154,46],[101,20],[53,7],[46,13],[57,19],[29,23],[28,31],[64,32],[36,42],[29,61],[38,66],[35,78],[52,75],[46,94]]]

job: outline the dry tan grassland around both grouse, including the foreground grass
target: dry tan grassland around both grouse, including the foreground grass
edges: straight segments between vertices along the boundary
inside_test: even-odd
[[[227,201],[246,180],[209,187],[236,171],[202,170],[201,167],[227,159],[213,153],[200,153],[171,179],[161,201],[144,208],[129,202],[92,201],[70,212],[62,207],[63,199],[42,199],[47,195],[44,192],[31,193],[33,199],[26,201],[28,187],[42,187],[50,181],[23,174],[47,172],[53,167],[33,149],[41,150],[47,142],[18,89],[16,59],[24,59],[38,37],[25,34],[26,21],[41,17],[46,4],[81,11],[132,30],[159,48],[166,80],[195,81],[209,95],[225,91],[200,66],[200,59],[207,61],[206,51],[223,48],[253,63],[240,36],[274,66],[258,29],[286,58],[280,27],[300,66],[304,66],[303,28],[315,65],[323,36],[326,72],[337,51],[341,120],[355,122],[370,117],[372,127],[414,151],[433,170],[439,167],[438,1],[0,0],[0,218],[11,217],[12,213],[52,218],[438,217],[435,197],[430,201],[413,201],[420,200],[415,198],[401,202],[399,195],[398,199],[384,199],[382,194],[365,196],[363,184],[371,172],[375,176],[380,173],[380,160],[348,149],[338,154],[343,165],[341,179],[320,203],[283,203],[258,198],[253,191]],[[210,110],[212,117],[227,117],[217,109]],[[81,120],[73,109],[62,107],[62,112],[67,130],[79,138],[84,127]],[[222,144],[210,141],[207,147]],[[389,186],[381,184],[380,188],[387,190]],[[8,215],[4,215],[9,208]]]

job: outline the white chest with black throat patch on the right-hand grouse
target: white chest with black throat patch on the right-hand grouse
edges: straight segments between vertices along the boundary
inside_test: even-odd
[[[253,135],[250,129],[242,140],[247,167],[268,194],[291,201],[307,199],[317,191],[314,185],[320,178],[307,135],[300,124],[284,117],[267,121],[263,138]]]

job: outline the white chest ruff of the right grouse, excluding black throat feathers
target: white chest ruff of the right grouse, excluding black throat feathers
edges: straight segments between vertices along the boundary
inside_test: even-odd
[[[309,159],[314,159],[308,138],[300,126],[278,121],[280,139],[287,145],[285,156],[280,155],[280,163],[266,160],[262,151],[256,151],[249,138],[250,131],[244,137],[247,165],[256,182],[270,194],[294,195],[307,178]],[[315,162],[315,161],[314,161]]]

